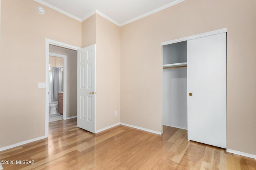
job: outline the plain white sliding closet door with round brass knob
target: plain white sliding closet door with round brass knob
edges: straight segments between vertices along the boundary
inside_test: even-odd
[[[226,148],[226,33],[187,41],[188,140]]]

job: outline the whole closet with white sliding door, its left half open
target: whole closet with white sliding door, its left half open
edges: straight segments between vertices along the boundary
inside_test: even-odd
[[[163,124],[226,148],[226,29],[162,43]]]

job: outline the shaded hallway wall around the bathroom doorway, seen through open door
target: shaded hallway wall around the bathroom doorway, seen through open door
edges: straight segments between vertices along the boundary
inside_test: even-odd
[[[67,56],[67,117],[76,116],[77,51],[50,45],[49,52]]]

